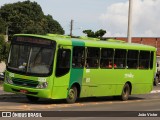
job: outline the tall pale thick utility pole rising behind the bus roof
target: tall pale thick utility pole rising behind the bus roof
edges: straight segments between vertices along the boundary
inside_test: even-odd
[[[129,10],[128,10],[128,43],[132,42],[132,7],[133,0],[129,0]]]

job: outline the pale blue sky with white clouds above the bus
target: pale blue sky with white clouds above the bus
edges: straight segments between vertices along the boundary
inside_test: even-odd
[[[0,7],[7,3],[25,0],[0,0]],[[129,0],[30,0],[42,7],[45,15],[52,15],[65,34],[85,36],[83,30],[106,30],[105,37],[126,37]],[[132,36],[160,37],[160,0],[132,0]]]

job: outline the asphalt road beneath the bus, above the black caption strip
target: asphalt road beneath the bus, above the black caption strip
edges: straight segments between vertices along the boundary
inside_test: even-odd
[[[136,111],[146,110],[151,106],[151,110],[160,111],[160,86],[154,87],[153,93],[145,95],[131,95],[128,101],[114,100],[112,97],[83,98],[75,104],[66,104],[64,100],[40,99],[37,103],[30,103],[24,95],[16,95],[3,92],[0,89],[0,111],[3,110],[76,110],[76,111]],[[155,104],[156,103],[156,104]],[[139,104],[139,105],[138,105]],[[143,107],[139,107],[143,105]],[[107,107],[106,107],[107,106]],[[130,107],[128,107],[130,106]],[[153,106],[153,107],[152,107]],[[149,110],[148,109],[148,110]]]

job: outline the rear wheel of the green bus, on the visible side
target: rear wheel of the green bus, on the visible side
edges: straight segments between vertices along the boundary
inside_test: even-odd
[[[122,101],[128,100],[130,94],[130,86],[126,83],[123,87],[122,94],[120,96]]]

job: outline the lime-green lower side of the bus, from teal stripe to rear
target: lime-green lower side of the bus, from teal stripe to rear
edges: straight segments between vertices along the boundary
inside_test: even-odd
[[[152,77],[152,70],[86,69],[81,97],[121,95],[126,82],[131,84],[131,94],[149,93]]]

